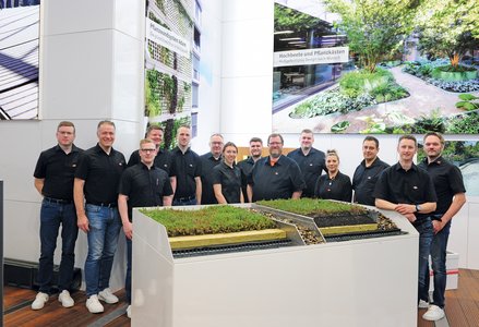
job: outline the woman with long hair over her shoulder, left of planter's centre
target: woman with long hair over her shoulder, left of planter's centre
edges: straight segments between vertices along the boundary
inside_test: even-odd
[[[223,148],[223,162],[213,168],[213,190],[218,204],[243,203],[241,170],[236,166],[237,146],[228,142]]]

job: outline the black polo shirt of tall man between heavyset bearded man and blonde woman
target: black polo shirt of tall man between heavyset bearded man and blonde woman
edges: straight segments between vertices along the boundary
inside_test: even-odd
[[[302,178],[307,184],[307,187],[302,191],[301,197],[313,197],[318,178],[323,170],[324,172],[327,172],[324,153],[311,148],[308,155],[304,156],[301,148],[297,148],[290,152],[288,157],[298,164],[301,169]]]

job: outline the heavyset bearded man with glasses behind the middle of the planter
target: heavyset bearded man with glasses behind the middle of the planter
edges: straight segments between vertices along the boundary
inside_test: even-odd
[[[270,156],[256,161],[248,181],[248,199],[300,198],[306,187],[301,170],[295,160],[285,157],[280,134],[267,137]]]

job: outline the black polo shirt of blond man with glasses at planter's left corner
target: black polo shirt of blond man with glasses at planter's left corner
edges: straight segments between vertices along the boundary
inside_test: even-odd
[[[163,197],[173,194],[169,177],[165,170],[143,162],[129,167],[120,179],[119,193],[128,196],[128,217],[131,221],[132,208],[163,206]]]

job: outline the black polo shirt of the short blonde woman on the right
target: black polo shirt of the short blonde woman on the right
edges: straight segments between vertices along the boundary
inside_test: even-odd
[[[351,202],[351,179],[340,171],[337,172],[334,179],[330,179],[327,173],[320,175],[314,190],[314,196],[319,198]]]

